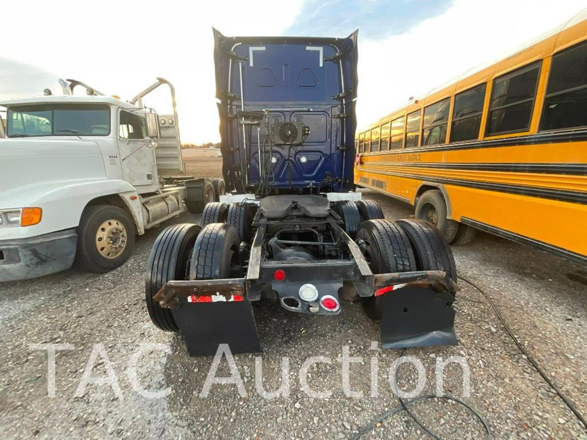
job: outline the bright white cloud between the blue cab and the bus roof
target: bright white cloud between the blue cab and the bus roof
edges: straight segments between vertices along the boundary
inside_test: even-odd
[[[453,5],[402,35],[361,38],[359,31],[359,127],[391,113],[471,67],[508,52],[570,19],[585,0],[551,2],[470,0]]]

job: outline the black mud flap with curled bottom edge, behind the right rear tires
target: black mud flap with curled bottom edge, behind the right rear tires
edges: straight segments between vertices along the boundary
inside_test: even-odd
[[[383,348],[456,346],[454,296],[431,287],[403,287],[383,295]]]

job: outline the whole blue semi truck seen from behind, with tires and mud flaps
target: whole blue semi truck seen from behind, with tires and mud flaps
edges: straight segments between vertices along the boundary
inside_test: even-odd
[[[384,219],[355,192],[357,32],[348,38],[226,37],[214,30],[227,194],[199,225],[153,245],[153,324],[190,356],[261,351],[252,303],[340,313],[362,302],[384,348],[456,344],[453,255],[437,229]],[[190,189],[188,188],[188,192]],[[189,196],[189,194],[188,194]]]

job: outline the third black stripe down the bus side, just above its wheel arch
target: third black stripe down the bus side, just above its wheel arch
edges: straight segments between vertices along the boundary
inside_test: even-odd
[[[566,189],[527,187],[524,185],[494,184],[472,180],[449,179],[444,177],[426,176],[417,174],[398,174],[395,172],[378,171],[379,174],[394,175],[424,180],[434,183],[457,185],[459,187],[487,189],[488,191],[508,192],[509,194],[528,195],[562,202],[587,204],[587,192],[567,191]]]

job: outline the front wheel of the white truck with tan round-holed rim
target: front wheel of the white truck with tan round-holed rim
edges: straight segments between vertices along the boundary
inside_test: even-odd
[[[134,225],[119,207],[87,207],[77,228],[75,265],[88,272],[110,272],[122,266],[134,248]]]

